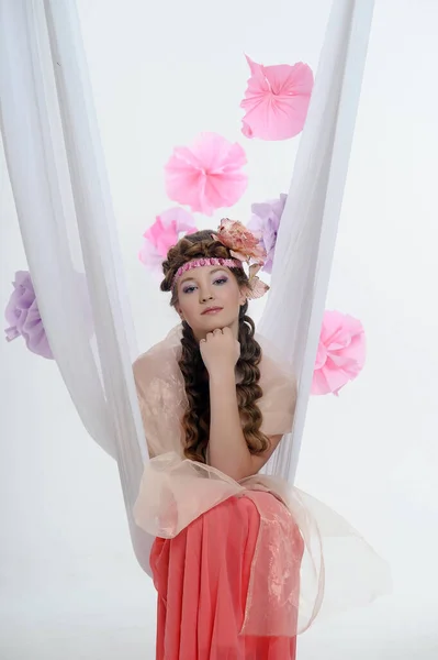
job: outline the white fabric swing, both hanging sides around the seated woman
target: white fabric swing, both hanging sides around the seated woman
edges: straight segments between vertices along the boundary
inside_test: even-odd
[[[260,331],[294,364],[294,432],[268,470],[293,480],[324,311],[370,32],[371,0],[336,0]],[[50,348],[90,436],[119,464],[132,518],[146,447],[115,221],[74,0],[0,0],[1,130],[29,267]],[[96,336],[78,296],[85,273]],[[284,305],[284,301],[288,305]]]

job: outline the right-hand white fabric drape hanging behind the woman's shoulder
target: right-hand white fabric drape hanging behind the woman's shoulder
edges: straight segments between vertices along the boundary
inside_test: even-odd
[[[266,466],[290,483],[303,437],[373,7],[373,0],[333,4],[258,327],[299,380],[292,433]]]

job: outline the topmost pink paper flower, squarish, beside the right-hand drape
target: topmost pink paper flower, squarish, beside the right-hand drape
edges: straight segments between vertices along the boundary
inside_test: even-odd
[[[304,128],[313,89],[310,66],[299,62],[293,66],[263,66],[247,56],[251,70],[245,99],[246,111],[242,132],[246,138],[288,140]]]

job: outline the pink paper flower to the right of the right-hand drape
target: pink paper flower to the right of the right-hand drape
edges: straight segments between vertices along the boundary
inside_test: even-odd
[[[315,371],[312,394],[333,393],[338,396],[349,381],[353,381],[363,369],[366,338],[362,323],[339,311],[326,311]]]

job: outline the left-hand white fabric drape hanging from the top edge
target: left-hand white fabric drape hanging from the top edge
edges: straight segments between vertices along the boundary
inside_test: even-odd
[[[134,548],[149,571],[153,538],[132,518],[147,460],[136,350],[76,4],[2,0],[0,30],[3,144],[42,319],[87,430],[117,460]],[[77,272],[87,277],[92,341]]]

